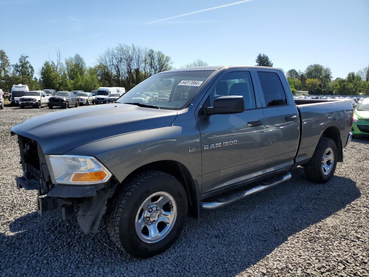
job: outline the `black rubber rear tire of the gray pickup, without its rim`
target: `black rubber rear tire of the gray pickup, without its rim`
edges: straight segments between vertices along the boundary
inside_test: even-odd
[[[330,172],[328,174],[324,174],[322,168],[322,160],[324,152],[328,148],[331,148],[333,150],[333,163]],[[311,160],[304,166],[306,177],[310,181],[318,184],[328,182],[332,178],[334,171],[336,170],[337,160],[338,160],[338,152],[334,140],[326,137],[320,138],[318,145],[315,148],[313,157],[311,157]]]

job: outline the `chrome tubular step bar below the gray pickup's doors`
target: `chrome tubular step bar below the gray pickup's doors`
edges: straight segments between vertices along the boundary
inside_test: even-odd
[[[263,191],[265,189],[274,187],[275,185],[279,185],[280,183],[283,183],[289,179],[291,179],[292,175],[290,172],[286,172],[286,174],[284,174],[283,176],[273,180],[273,181],[269,181],[269,182],[263,182],[262,185],[258,185],[254,188],[248,189],[246,191],[241,191],[241,192],[237,192],[233,195],[227,196],[227,197],[223,197],[223,198],[219,198],[217,201],[215,202],[200,202],[200,209],[203,210],[213,210],[213,209],[217,209],[220,207],[223,207],[225,205],[228,205],[232,202],[238,201],[242,198],[245,198],[246,196],[249,196],[251,194],[255,194],[257,192]]]

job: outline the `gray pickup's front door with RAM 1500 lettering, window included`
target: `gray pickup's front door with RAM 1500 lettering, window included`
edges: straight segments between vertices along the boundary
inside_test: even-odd
[[[264,163],[264,116],[252,82],[252,70],[225,71],[210,87],[202,107],[214,99],[241,95],[245,111],[238,114],[200,116],[202,194],[242,182],[261,174]]]

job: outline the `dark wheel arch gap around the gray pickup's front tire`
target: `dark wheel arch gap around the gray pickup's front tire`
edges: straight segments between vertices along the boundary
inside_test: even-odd
[[[145,165],[142,165],[141,167],[138,167],[134,171],[132,171],[130,174],[127,175],[127,177],[120,183],[118,188],[115,190],[115,193],[112,198],[115,197],[115,194],[118,194],[120,191],[120,188],[124,186],[124,184],[127,182],[127,180],[134,178],[140,172],[148,171],[148,170],[158,170],[165,172],[169,175],[172,175],[173,177],[177,178],[181,184],[183,185],[186,194],[187,194],[187,200],[188,200],[188,213],[189,216],[192,218],[199,218],[200,213],[200,189],[199,184],[197,180],[194,180],[190,171],[186,166],[184,166],[182,163],[179,163],[178,161],[173,160],[161,160],[161,161],[155,161],[152,163],[148,163]]]

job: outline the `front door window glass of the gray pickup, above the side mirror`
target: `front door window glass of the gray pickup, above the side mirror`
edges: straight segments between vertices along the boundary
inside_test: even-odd
[[[214,99],[220,96],[240,95],[244,96],[245,109],[255,109],[255,92],[251,81],[251,74],[248,71],[230,72],[215,85],[215,88],[205,102],[206,106],[212,107]]]

